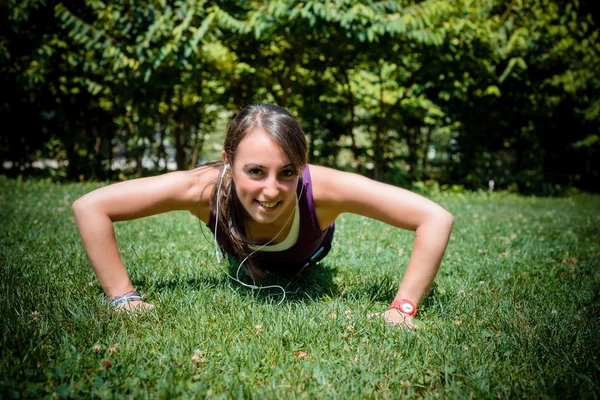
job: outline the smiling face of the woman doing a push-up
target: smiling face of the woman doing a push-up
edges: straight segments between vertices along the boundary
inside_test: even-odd
[[[261,224],[288,219],[296,206],[299,176],[281,147],[262,129],[242,139],[231,173],[238,198],[250,218]]]

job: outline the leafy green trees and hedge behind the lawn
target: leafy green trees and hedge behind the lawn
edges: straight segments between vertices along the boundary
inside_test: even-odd
[[[311,162],[404,186],[597,190],[594,6],[6,0],[3,172],[44,160],[61,180],[185,169],[218,156],[235,110],[269,102],[299,118]]]

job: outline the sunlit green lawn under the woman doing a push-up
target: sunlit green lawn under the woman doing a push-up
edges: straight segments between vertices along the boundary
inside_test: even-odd
[[[119,223],[156,310],[112,312],[70,211],[94,187],[0,177],[3,399],[600,396],[598,196],[438,195],[453,236],[406,331],[367,314],[413,234],[352,215],[281,305],[228,280],[190,214]]]

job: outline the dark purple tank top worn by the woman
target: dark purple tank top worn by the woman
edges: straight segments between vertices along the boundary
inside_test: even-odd
[[[283,251],[257,251],[253,258],[257,262],[266,262],[268,264],[295,264],[308,260],[319,248],[327,242],[335,229],[335,223],[332,223],[321,231],[317,212],[315,208],[315,200],[313,198],[312,183],[310,179],[310,169],[307,164],[302,170],[302,177],[298,181],[296,189],[298,196],[298,210],[300,212],[300,231],[298,232],[298,240],[287,250]],[[215,215],[211,212],[208,228],[214,234]],[[217,241],[221,248],[229,255],[235,257],[231,241],[222,229],[217,232]]]

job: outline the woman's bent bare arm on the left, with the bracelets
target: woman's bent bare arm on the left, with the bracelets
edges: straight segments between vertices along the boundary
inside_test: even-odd
[[[73,203],[83,246],[109,298],[133,290],[119,254],[113,222],[188,210],[206,223],[217,173],[213,168],[201,168],[134,179],[94,190]],[[127,308],[139,306],[148,305],[127,304]]]

